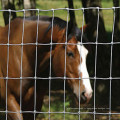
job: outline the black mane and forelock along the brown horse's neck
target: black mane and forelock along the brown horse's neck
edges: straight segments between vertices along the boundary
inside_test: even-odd
[[[23,19],[23,17],[19,17]],[[31,17],[25,17],[25,20],[31,20],[31,21],[37,21],[38,16],[31,16]],[[39,16],[40,21],[45,21],[45,22],[50,22],[48,28],[45,31],[46,35],[51,29],[52,26],[57,27],[58,31],[61,31],[63,29],[67,28],[67,22],[59,17],[49,17],[49,16]],[[52,20],[53,20],[53,25],[52,25]],[[78,28],[76,25],[71,27],[71,21],[68,22],[68,40],[71,39],[73,36],[76,37],[78,41],[81,41],[81,30]],[[83,35],[84,42],[88,42],[87,38]]]

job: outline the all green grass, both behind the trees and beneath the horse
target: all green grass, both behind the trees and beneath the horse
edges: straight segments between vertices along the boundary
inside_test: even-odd
[[[67,1],[65,0],[54,0],[54,1],[51,1],[51,0],[37,0],[37,6],[36,8],[39,8],[39,9],[52,9],[52,8],[66,8],[68,7],[67,5]],[[1,5],[0,5],[1,6]],[[80,1],[76,0],[74,1],[74,6],[75,8],[81,8],[82,7],[82,4]],[[108,7],[112,7],[113,4],[112,4],[112,1],[109,2],[109,1],[103,1],[102,0],[102,7],[103,8],[108,8]],[[79,27],[82,25],[82,19],[83,19],[83,14],[82,14],[82,11],[76,11],[76,18],[77,18],[77,23],[79,25]],[[23,13],[17,13],[18,16],[22,16]],[[40,12],[40,15],[47,15],[47,16],[52,16],[52,12]],[[59,10],[59,11],[55,11],[55,16],[58,16],[64,20],[67,19],[67,12],[65,10]],[[106,28],[106,31],[107,32],[111,32],[112,31],[112,25],[113,25],[113,11],[112,10],[103,10],[103,18],[104,18],[104,23],[105,23],[105,28]],[[2,12],[0,12],[0,25],[1,26],[4,26],[4,21],[3,21],[3,17],[2,17]],[[54,93],[54,92],[51,92],[51,112],[55,112],[55,111],[58,111],[58,112],[63,112],[63,108],[64,108],[64,105],[63,105],[63,90],[62,91],[59,91],[59,90],[56,90],[58,91],[57,93]],[[66,93],[66,103],[65,103],[65,107],[66,107],[66,111],[67,112],[70,112],[70,110],[68,110],[67,108],[70,108],[70,107],[73,107],[71,106],[71,104],[73,104],[73,101],[72,101],[72,96],[69,94],[69,93]],[[44,105],[42,107],[42,111],[43,112],[48,112],[49,110],[49,104],[48,104],[48,95],[46,95],[45,97],[45,100],[44,100]],[[72,112],[76,112],[77,111],[72,111]],[[42,115],[39,115],[37,120],[48,120],[48,117],[49,117],[49,114],[42,114]],[[78,120],[79,118],[79,115],[69,115],[69,114],[66,114],[64,116],[64,114],[51,114],[51,120],[62,120],[64,119],[64,117],[66,118],[66,120]],[[88,120],[89,116],[88,115],[82,115],[81,116],[81,120]],[[93,120],[93,117],[91,117],[91,120]],[[89,119],[90,120],[90,119]],[[102,119],[102,120],[105,120],[105,119]]]

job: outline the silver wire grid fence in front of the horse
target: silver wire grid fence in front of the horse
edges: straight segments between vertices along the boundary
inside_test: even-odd
[[[84,42],[82,41],[82,38],[83,38],[83,26],[84,26],[84,10],[88,10],[88,9],[96,9],[98,11],[98,20],[97,20],[97,33],[96,33],[96,41],[95,42]],[[8,29],[8,43],[7,44],[3,44],[1,43],[0,46],[7,46],[7,76],[3,76],[1,77],[0,76],[0,79],[4,79],[6,80],[6,110],[3,111],[3,110],[0,110],[0,113],[5,113],[6,114],[6,120],[8,120],[8,113],[33,113],[34,114],[34,120],[36,119],[36,114],[39,113],[39,114],[42,114],[42,113],[47,113],[49,114],[49,120],[51,119],[51,114],[64,114],[64,118],[63,120],[65,120],[65,115],[66,114],[75,114],[75,115],[78,115],[79,116],[79,120],[81,120],[81,115],[82,114],[91,114],[91,115],[94,115],[94,120],[96,120],[96,115],[109,115],[109,120],[111,120],[111,115],[120,115],[120,113],[113,113],[111,111],[111,85],[112,85],[112,80],[114,79],[120,79],[119,77],[112,77],[112,59],[113,59],[113,45],[114,44],[120,44],[120,42],[114,42],[113,41],[113,37],[114,37],[114,26],[115,26],[115,10],[116,9],[120,9],[120,7],[112,7],[112,8],[99,8],[99,7],[89,7],[89,8],[80,8],[80,9],[69,9],[69,8],[59,8],[59,9],[50,9],[50,10],[40,10],[40,9],[23,9],[23,10],[0,10],[0,12],[3,12],[3,11],[6,11],[6,12],[9,12],[9,29]],[[65,47],[65,68],[64,68],[64,77],[52,77],[52,49],[53,49],[53,45],[58,45],[58,44],[65,44],[65,45],[77,45],[77,44],[72,44],[72,43],[67,43],[67,31],[66,31],[66,42],[65,43],[53,43],[53,21],[54,21],[54,12],[57,11],[57,10],[65,10],[67,11],[67,25],[66,25],[66,29],[68,29],[68,22],[69,22],[69,11],[70,10],[73,10],[73,11],[82,11],[83,12],[83,21],[82,21],[82,35],[81,35],[81,42],[79,43],[79,45],[95,45],[96,47],[96,52],[95,52],[95,76],[94,77],[90,77],[91,80],[94,81],[94,88],[93,88],[93,91],[94,91],[94,105],[93,105],[93,108],[86,108],[87,110],[88,109],[92,109],[93,112],[82,112],[81,109],[84,109],[81,108],[81,105],[80,105],[80,92],[79,92],[79,108],[78,108],[78,112],[67,112],[66,111],[66,106],[65,106],[65,103],[66,103],[66,80],[67,79],[73,79],[73,78],[68,78],[66,76],[66,47]],[[113,16],[114,16],[114,20],[113,20],[113,30],[112,30],[112,41],[110,43],[100,43],[98,42],[98,29],[99,29],[99,12],[100,10],[113,10]],[[37,19],[37,34],[36,34],[36,42],[35,43],[24,43],[24,22],[25,22],[25,13],[27,11],[36,11],[37,13],[37,16],[38,16],[38,19]],[[38,34],[39,34],[39,28],[38,28],[38,25],[39,25],[39,14],[40,12],[43,12],[43,11],[52,11],[52,30],[51,30],[51,41],[50,43],[47,43],[47,44],[44,44],[44,43],[38,43]],[[12,12],[23,12],[23,32],[22,32],[22,42],[21,44],[11,44],[10,43],[10,22],[11,22],[11,13]],[[36,52],[35,52],[35,75],[33,77],[24,77],[23,76],[23,46],[29,46],[29,45],[35,45],[36,46]],[[37,76],[37,64],[38,64],[38,58],[37,58],[37,55],[38,55],[38,46],[40,45],[43,45],[43,46],[47,46],[49,45],[50,46],[50,68],[49,68],[49,77],[38,77]],[[110,76],[107,78],[101,78],[101,77],[97,77],[96,75],[96,68],[97,68],[97,56],[98,56],[98,45],[110,45],[111,46],[111,57],[110,57]],[[20,77],[16,78],[16,77],[9,77],[8,74],[9,74],[9,49],[10,49],[10,46],[21,46],[21,72],[20,72]],[[9,79],[20,79],[20,111],[8,111],[8,106],[7,106],[7,96],[8,96],[8,93],[7,93],[7,87],[8,87],[8,80]],[[23,82],[23,79],[32,79],[34,80],[34,111],[23,111],[22,110],[22,82]],[[49,80],[49,111],[46,111],[46,112],[42,112],[42,111],[37,111],[36,110],[36,80],[39,80],[39,79],[43,79],[43,80]],[[58,111],[55,111],[55,112],[52,112],[51,111],[51,82],[52,80],[54,79],[63,79],[64,80],[64,107],[63,107],[63,111],[62,112],[58,112]],[[74,78],[74,79],[80,79],[79,78]],[[83,79],[87,79],[87,78],[83,78]],[[102,112],[96,112],[96,109],[100,109],[100,108],[96,108],[96,81],[97,79],[101,79],[101,80],[109,80],[109,84],[110,84],[110,89],[109,89],[109,108],[107,108],[109,110],[109,112],[106,112],[106,113],[102,113]],[[79,82],[79,86],[80,86],[80,82]],[[80,91],[80,87],[79,87],[79,91]],[[2,92],[2,91],[1,91]],[[59,106],[59,105],[58,105]],[[75,109],[75,108],[71,108],[71,109]],[[105,109],[105,108],[103,108]],[[21,118],[22,120],[22,118]]]

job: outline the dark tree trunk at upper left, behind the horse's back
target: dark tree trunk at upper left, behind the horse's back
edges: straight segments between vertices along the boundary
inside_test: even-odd
[[[14,1],[12,3],[10,0],[1,0],[1,3],[2,3],[3,10],[7,10],[7,9],[15,10]],[[15,19],[16,17],[17,17],[16,13],[11,12],[11,19]],[[3,18],[4,18],[5,25],[7,25],[9,23],[9,12],[4,11]]]

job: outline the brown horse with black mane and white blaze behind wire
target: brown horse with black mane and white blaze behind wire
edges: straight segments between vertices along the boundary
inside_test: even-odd
[[[79,44],[81,39],[80,29],[71,27],[69,22],[67,31],[68,45],[66,45],[66,21],[54,18],[51,52],[51,44],[49,44],[52,31],[51,18],[39,21],[37,45],[37,21],[24,21],[23,51],[21,45],[23,20],[17,18],[10,23],[9,48],[7,44],[8,30],[9,26],[0,27],[0,44],[4,44],[0,45],[0,95],[4,103],[6,103],[7,87],[7,110],[13,112],[8,112],[8,119],[33,120],[33,113],[28,112],[26,114],[20,110],[34,111],[35,80],[36,110],[41,110],[44,95],[49,85],[47,78],[50,75],[50,60],[51,77],[62,77],[63,79],[66,77],[66,83],[69,84],[77,98],[79,99],[80,92],[81,98],[84,101],[89,101],[92,96],[92,88],[86,68],[88,51],[83,45]],[[36,58],[37,67],[35,67]],[[35,70],[35,68],[37,69]],[[37,78],[35,78],[35,74]]]

